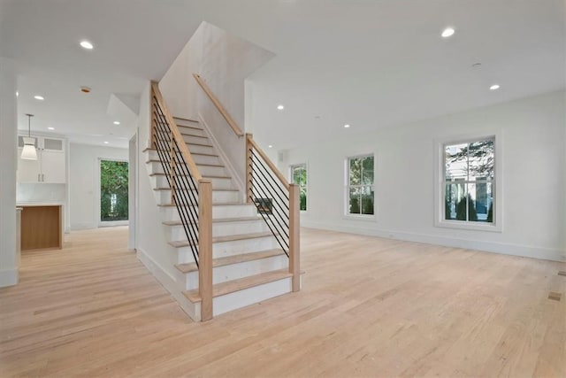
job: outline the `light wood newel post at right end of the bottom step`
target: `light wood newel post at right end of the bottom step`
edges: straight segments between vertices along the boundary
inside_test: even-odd
[[[289,184],[289,273],[293,274],[293,291],[301,289],[300,191],[297,184]]]

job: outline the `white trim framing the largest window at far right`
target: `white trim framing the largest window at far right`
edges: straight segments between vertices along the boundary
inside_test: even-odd
[[[444,219],[444,145],[470,143],[493,138],[495,174],[493,181],[493,223],[463,222],[460,220]],[[457,228],[476,231],[503,232],[503,150],[501,132],[493,134],[458,135],[434,141],[434,226],[438,228]]]

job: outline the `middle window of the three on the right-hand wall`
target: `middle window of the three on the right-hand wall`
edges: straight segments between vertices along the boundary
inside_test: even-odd
[[[348,158],[347,214],[373,215],[373,155]]]

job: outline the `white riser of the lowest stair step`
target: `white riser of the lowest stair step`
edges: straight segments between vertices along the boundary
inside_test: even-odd
[[[292,291],[291,278],[264,283],[253,288],[235,291],[212,300],[212,314],[217,316],[224,312],[236,310],[247,305],[254,305],[272,297],[279,297]]]

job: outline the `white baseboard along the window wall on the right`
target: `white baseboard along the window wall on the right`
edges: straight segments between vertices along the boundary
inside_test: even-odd
[[[302,221],[301,226],[305,228],[327,229],[350,234],[369,235],[396,239],[406,242],[443,245],[447,247],[464,248],[468,250],[501,253],[504,255],[520,256],[524,258],[539,258],[551,261],[566,261],[565,251],[558,249],[520,245],[513,243],[486,242],[482,240],[458,239],[446,236],[415,234],[402,231],[388,231],[372,228],[356,228],[348,226],[336,226],[323,222]]]

